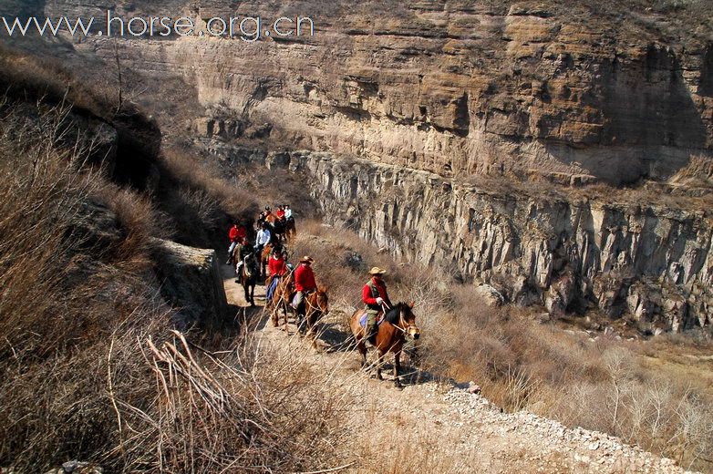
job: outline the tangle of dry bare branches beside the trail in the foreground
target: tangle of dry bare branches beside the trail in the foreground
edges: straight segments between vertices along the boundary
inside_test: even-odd
[[[152,376],[142,389],[150,393],[136,406],[116,397],[121,441],[105,465],[206,473],[329,466],[350,400],[336,395],[328,374],[255,337],[216,352],[176,332],[161,344],[145,340]]]

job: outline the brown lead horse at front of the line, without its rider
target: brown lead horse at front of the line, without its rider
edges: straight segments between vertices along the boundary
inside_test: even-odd
[[[384,321],[378,325],[376,336],[377,349],[377,378],[383,380],[381,376],[381,364],[384,356],[387,353],[394,354],[394,385],[401,387],[401,381],[398,379],[398,371],[401,368],[401,350],[406,342],[406,335],[410,335],[414,339],[418,339],[421,335],[420,329],[416,325],[416,316],[413,314],[414,304],[399,303],[387,311],[384,316]],[[367,364],[367,345],[364,340],[366,329],[360,323],[361,317],[365,310],[356,310],[349,320],[349,327],[352,330],[352,335],[356,339],[356,348],[361,355],[361,366]]]

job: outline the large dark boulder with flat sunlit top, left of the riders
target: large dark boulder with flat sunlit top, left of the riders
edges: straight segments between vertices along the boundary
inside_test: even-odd
[[[153,259],[163,297],[177,309],[174,323],[220,325],[228,303],[215,251],[155,240]]]

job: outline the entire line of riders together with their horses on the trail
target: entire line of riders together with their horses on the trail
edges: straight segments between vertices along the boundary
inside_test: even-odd
[[[309,255],[299,259],[296,266],[289,263],[286,243],[296,235],[294,217],[288,205],[272,211],[265,207],[257,218],[254,241],[248,237],[248,226],[235,222],[229,232],[231,241],[229,264],[235,264],[238,283],[243,284],[245,300],[254,303],[254,290],[258,278],[265,278],[267,288],[265,307],[269,309],[273,325],[278,327],[280,310],[287,329],[288,307],[294,312],[300,334],[312,335],[312,345],[317,348],[315,327],[319,319],[329,312],[327,290],[318,286],[312,268],[315,259]],[[362,288],[362,309],[356,310],[349,320],[356,349],[361,356],[361,366],[367,364],[367,346],[377,350],[378,361],[387,353],[394,354],[394,383],[400,386],[401,350],[406,335],[418,339],[420,330],[412,309],[414,303],[392,304],[384,282],[386,270],[373,267],[369,280]],[[387,323],[387,324],[382,324]],[[377,364],[377,378],[381,379],[381,365]]]

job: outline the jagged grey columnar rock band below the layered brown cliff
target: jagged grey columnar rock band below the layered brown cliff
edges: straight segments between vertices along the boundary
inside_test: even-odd
[[[399,258],[488,283],[554,315],[597,307],[645,331],[713,327],[713,221],[706,211],[484,189],[435,174],[281,153],[312,182],[327,222]]]

